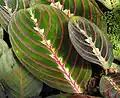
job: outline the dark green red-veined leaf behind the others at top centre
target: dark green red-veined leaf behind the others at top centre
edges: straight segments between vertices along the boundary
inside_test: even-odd
[[[106,30],[105,21],[101,18],[102,12],[95,0],[31,0],[32,4],[48,4],[62,10],[69,17],[82,16],[94,22],[100,29]]]

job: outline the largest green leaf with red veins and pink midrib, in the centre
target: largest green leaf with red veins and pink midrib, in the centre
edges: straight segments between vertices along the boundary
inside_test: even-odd
[[[64,92],[82,93],[91,66],[72,46],[68,20],[49,5],[20,10],[9,25],[10,41],[18,59],[38,79]]]

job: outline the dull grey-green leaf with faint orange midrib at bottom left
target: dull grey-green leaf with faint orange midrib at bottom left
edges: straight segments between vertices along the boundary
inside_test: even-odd
[[[28,98],[40,94],[42,82],[23,67],[11,50],[2,55],[0,66],[1,83],[9,98]]]

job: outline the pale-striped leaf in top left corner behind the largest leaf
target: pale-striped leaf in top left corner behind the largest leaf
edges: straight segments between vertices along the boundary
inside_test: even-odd
[[[11,16],[19,9],[29,7],[30,0],[0,0],[0,24],[7,31]]]

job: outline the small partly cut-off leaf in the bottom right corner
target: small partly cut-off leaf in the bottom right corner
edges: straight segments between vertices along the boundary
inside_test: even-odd
[[[120,97],[120,73],[102,76],[100,92],[104,98]]]

